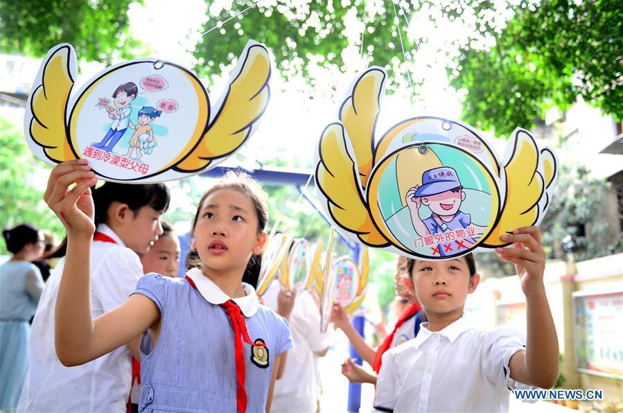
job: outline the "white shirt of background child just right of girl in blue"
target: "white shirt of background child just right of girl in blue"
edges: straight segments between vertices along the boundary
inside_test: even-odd
[[[279,283],[273,281],[266,291],[264,304],[277,310]],[[320,312],[309,292],[295,299],[290,315],[294,348],[288,351],[286,370],[274,384],[271,412],[315,412],[320,396],[320,376],[316,352],[331,345],[333,328],[320,333]]]

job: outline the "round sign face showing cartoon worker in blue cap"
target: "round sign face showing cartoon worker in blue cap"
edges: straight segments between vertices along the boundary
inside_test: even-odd
[[[500,208],[498,178],[450,143],[410,144],[387,155],[371,173],[367,196],[383,235],[425,259],[470,252]]]

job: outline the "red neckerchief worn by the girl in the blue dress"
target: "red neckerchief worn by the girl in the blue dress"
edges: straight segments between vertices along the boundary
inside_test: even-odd
[[[184,276],[188,283],[191,283],[195,290],[197,290],[197,285],[189,276]],[[245,413],[247,409],[247,392],[245,390],[245,353],[243,349],[243,340],[245,343],[254,345],[254,346],[264,346],[262,343],[253,343],[251,342],[251,337],[249,337],[249,332],[247,331],[247,323],[245,322],[245,317],[243,316],[242,311],[240,310],[240,306],[236,304],[234,301],[227,300],[223,304],[219,304],[222,308],[225,309],[225,313],[229,316],[229,322],[231,322],[232,328],[234,328],[234,350],[236,354],[236,403],[238,404],[238,413]],[[242,335],[242,339],[240,340],[240,335]]]

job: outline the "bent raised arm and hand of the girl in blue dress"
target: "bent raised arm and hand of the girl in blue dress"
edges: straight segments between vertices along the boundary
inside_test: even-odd
[[[95,232],[90,187],[97,179],[85,159],[58,164],[44,200],[67,229],[67,256],[55,308],[55,347],[66,366],[84,364],[130,342],[159,321],[155,303],[132,295],[121,306],[91,319],[91,243]],[[70,190],[69,186],[76,183]]]

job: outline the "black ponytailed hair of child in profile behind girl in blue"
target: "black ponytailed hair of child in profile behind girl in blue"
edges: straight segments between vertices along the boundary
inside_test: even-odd
[[[170,201],[170,192],[165,184],[131,185],[116,182],[104,182],[98,188],[91,188],[95,205],[95,226],[106,224],[108,209],[113,202],[128,205],[130,211],[137,213],[143,207],[152,207],[165,212]],[[60,258],[67,254],[67,237],[62,240],[49,258]]]

